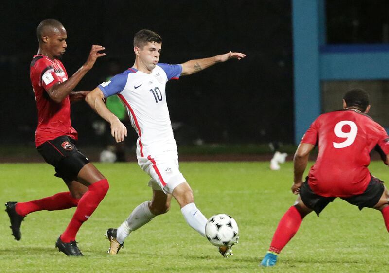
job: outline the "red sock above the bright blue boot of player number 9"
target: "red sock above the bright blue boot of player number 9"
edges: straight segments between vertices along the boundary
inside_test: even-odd
[[[283,247],[299,230],[302,217],[296,207],[291,206],[281,218],[280,223],[274,233],[269,251],[280,253]]]

